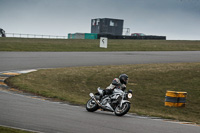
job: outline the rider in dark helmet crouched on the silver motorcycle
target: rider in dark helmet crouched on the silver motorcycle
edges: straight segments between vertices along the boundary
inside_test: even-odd
[[[114,78],[112,83],[105,90],[103,90],[103,96],[111,95],[114,89],[121,89],[124,91],[126,89],[127,83],[128,83],[128,75],[121,74],[119,78]]]

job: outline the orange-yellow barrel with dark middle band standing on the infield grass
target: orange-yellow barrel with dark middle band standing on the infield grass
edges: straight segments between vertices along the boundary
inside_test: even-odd
[[[165,96],[165,106],[185,107],[187,92],[167,91]]]

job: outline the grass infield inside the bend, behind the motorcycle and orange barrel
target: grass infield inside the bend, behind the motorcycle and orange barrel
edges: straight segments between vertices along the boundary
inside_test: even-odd
[[[68,67],[39,70],[9,78],[13,87],[84,105],[90,92],[105,88],[121,73],[133,90],[130,112],[200,123],[200,63]],[[167,90],[188,92],[186,107],[165,107]]]

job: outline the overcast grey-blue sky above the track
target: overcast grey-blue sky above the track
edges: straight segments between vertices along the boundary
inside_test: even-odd
[[[94,18],[124,19],[131,33],[200,40],[200,0],[0,0],[6,33],[90,33]]]

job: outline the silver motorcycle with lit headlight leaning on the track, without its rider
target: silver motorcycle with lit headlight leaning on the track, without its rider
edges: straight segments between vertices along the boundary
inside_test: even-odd
[[[116,116],[125,115],[130,109],[130,101],[132,98],[132,90],[122,91],[121,89],[114,89],[111,95],[102,97],[103,89],[97,88],[97,93],[90,93],[90,99],[86,104],[86,110],[94,112],[98,109],[102,111],[114,112]]]

